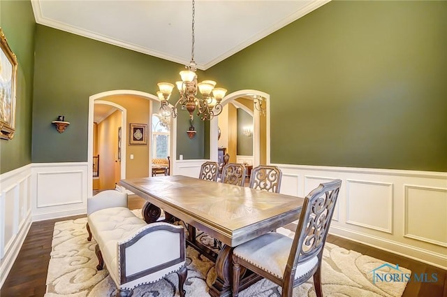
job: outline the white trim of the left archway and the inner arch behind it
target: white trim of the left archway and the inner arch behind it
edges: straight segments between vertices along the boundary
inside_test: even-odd
[[[113,103],[111,101],[106,101],[105,98],[109,97],[109,96],[118,96],[118,95],[129,95],[129,96],[139,96],[142,99],[147,99],[149,100],[149,109],[151,110],[151,112],[153,113],[154,110],[152,110],[152,101],[158,101],[160,102],[160,99],[158,96],[146,93],[146,92],[141,92],[141,91],[137,91],[137,90],[133,90],[133,89],[115,89],[112,91],[106,91],[106,92],[101,92],[98,94],[94,94],[89,96],[89,118],[88,118],[88,141],[87,141],[87,195],[91,196],[93,194],[93,119],[94,119],[94,104],[98,101],[101,101],[101,103],[103,104],[109,104],[109,105],[113,105],[115,104],[117,106],[119,106],[116,103]],[[105,102],[105,103],[104,103]],[[119,110],[122,111],[126,111],[125,108],[123,108],[122,106],[119,106]],[[118,108],[118,107],[117,107]],[[149,115],[149,126],[150,129],[147,129],[148,134],[148,138],[152,139],[152,113]],[[124,122],[123,122],[124,121]],[[171,117],[171,131],[170,131],[170,154],[172,156],[175,156],[177,154],[176,152],[176,147],[177,147],[177,119]],[[124,113],[122,115],[122,137],[121,137],[121,141],[122,141],[122,163],[121,163],[121,178],[124,179],[126,178],[126,148],[127,148],[127,114],[125,114],[124,117]],[[148,144],[149,145],[149,144]],[[152,158],[150,156],[150,147],[149,147],[149,164],[147,164],[148,168],[148,175],[151,172],[151,161]],[[171,164],[170,168],[175,168],[175,158],[171,158],[171,161],[173,162],[173,164]]]

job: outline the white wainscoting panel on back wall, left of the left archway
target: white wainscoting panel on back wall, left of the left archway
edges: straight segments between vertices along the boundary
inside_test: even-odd
[[[87,162],[33,164],[31,177],[33,222],[87,212]]]

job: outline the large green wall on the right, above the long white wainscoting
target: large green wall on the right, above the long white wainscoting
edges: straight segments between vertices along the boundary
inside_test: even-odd
[[[447,1],[332,1],[207,70],[271,96],[271,161],[447,171]]]

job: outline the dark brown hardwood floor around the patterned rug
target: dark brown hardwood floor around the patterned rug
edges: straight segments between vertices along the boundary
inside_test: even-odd
[[[144,200],[138,196],[129,196],[129,208],[141,208]],[[45,281],[47,277],[48,261],[50,261],[51,241],[54,222],[65,219],[84,217],[66,217],[51,219],[43,222],[34,222],[24,241],[22,249],[17,256],[6,282],[0,291],[1,297],[42,297],[45,294]],[[286,226],[287,227],[287,226]],[[384,252],[367,245],[362,245],[351,240],[328,236],[328,242],[339,247],[353,249],[361,254],[366,254],[389,263],[397,263],[408,268],[412,273],[437,273],[437,282],[409,282],[404,291],[404,297],[446,297],[447,296],[447,271],[425,263],[414,261],[404,256]],[[192,296],[193,297],[193,296]]]

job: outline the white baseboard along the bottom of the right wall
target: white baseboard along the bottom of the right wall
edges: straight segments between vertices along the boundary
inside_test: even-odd
[[[366,233],[344,229],[339,226],[331,226],[330,234],[447,270],[447,255],[444,254],[437,254],[427,249],[420,249],[411,245],[402,244],[402,242],[386,240]],[[440,263],[446,264],[443,266]]]

